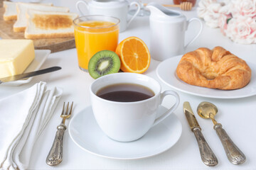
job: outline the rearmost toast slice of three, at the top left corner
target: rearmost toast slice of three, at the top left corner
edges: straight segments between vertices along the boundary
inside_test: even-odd
[[[17,19],[17,9],[16,2],[4,1],[4,21],[16,20]],[[25,4],[25,3],[24,3]],[[28,4],[28,3],[26,3]],[[42,4],[46,6],[52,6],[52,3]]]

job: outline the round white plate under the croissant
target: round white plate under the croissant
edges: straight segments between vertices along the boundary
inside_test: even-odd
[[[171,57],[161,62],[156,68],[156,74],[166,85],[186,94],[203,96],[208,98],[245,98],[256,95],[256,65],[250,62],[247,64],[252,69],[252,78],[250,83],[242,89],[224,91],[219,89],[208,89],[201,86],[186,84],[176,75],[176,67],[181,60],[182,55]]]

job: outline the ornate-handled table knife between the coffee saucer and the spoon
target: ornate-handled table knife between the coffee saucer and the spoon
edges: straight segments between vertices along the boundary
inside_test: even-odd
[[[203,137],[200,125],[198,124],[198,121],[196,120],[196,117],[193,114],[193,111],[188,101],[185,101],[183,103],[183,111],[186,115],[186,119],[188,120],[188,125],[196,136],[203,163],[207,166],[217,165],[218,159],[217,157],[215,157],[215,154],[213,153],[212,149],[210,149],[208,143],[206,142],[206,139]]]

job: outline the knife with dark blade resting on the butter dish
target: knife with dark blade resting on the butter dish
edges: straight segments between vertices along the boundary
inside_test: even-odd
[[[4,82],[8,82],[8,81],[16,81],[16,80],[20,80],[20,79],[25,79],[28,77],[34,77],[40,74],[45,74],[48,72],[55,72],[57,70],[61,69],[61,67],[50,67],[47,69],[40,69],[38,71],[35,72],[27,72],[27,73],[23,73],[23,74],[16,74],[14,76],[11,77],[4,77],[0,79],[0,84],[4,83]]]

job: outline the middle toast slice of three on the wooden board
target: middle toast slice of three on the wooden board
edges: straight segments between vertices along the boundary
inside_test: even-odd
[[[40,10],[40,11],[60,11],[68,12],[69,8],[58,7],[58,6],[45,6],[41,4],[23,4],[17,3],[17,21],[14,23],[14,32],[23,32],[27,26],[26,12],[28,9]]]

